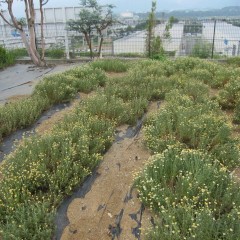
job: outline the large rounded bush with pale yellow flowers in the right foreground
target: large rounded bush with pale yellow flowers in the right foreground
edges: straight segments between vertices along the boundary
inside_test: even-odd
[[[146,239],[239,238],[239,185],[208,154],[169,147],[152,157],[136,186],[161,218]]]

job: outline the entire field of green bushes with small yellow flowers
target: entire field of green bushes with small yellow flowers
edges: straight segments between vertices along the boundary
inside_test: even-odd
[[[0,239],[52,239],[59,205],[99,166],[116,129],[139,119],[151,157],[133,186],[154,216],[141,238],[239,239],[237,63],[99,60],[48,76],[28,98],[0,107],[4,139],[51,106],[89,96],[0,165]],[[153,102],[161,107],[146,115]]]

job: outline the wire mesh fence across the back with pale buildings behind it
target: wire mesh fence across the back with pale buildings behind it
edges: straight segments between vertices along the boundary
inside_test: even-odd
[[[167,21],[160,21],[155,36],[160,36],[164,51],[173,57],[197,56],[202,58],[240,56],[240,19],[180,20],[166,30]],[[35,26],[38,46],[41,46],[40,25]],[[103,56],[144,56],[146,30],[124,26],[112,27],[105,32]],[[1,32],[2,31],[2,32]],[[168,32],[166,32],[168,31]],[[6,26],[0,28],[0,45],[5,48],[24,47],[21,38]],[[68,30],[66,22],[44,25],[46,49],[63,49],[67,58],[87,56],[89,49],[81,33]],[[98,51],[100,39],[93,33],[93,51]]]

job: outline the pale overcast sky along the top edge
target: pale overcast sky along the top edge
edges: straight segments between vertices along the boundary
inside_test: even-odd
[[[38,1],[36,1],[38,2]],[[115,12],[133,11],[148,12],[151,9],[151,0],[98,0],[100,4],[114,4]],[[79,6],[80,0],[49,0],[45,7],[71,7]],[[17,15],[22,11],[22,5],[15,0],[14,5]],[[240,6],[240,0],[157,0],[157,10],[179,9],[212,9],[226,6]]]

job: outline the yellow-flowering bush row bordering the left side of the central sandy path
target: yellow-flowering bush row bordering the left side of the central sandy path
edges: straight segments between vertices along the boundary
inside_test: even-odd
[[[96,167],[113,133],[109,120],[78,110],[50,134],[25,139],[0,167],[3,239],[50,239],[56,207]]]

